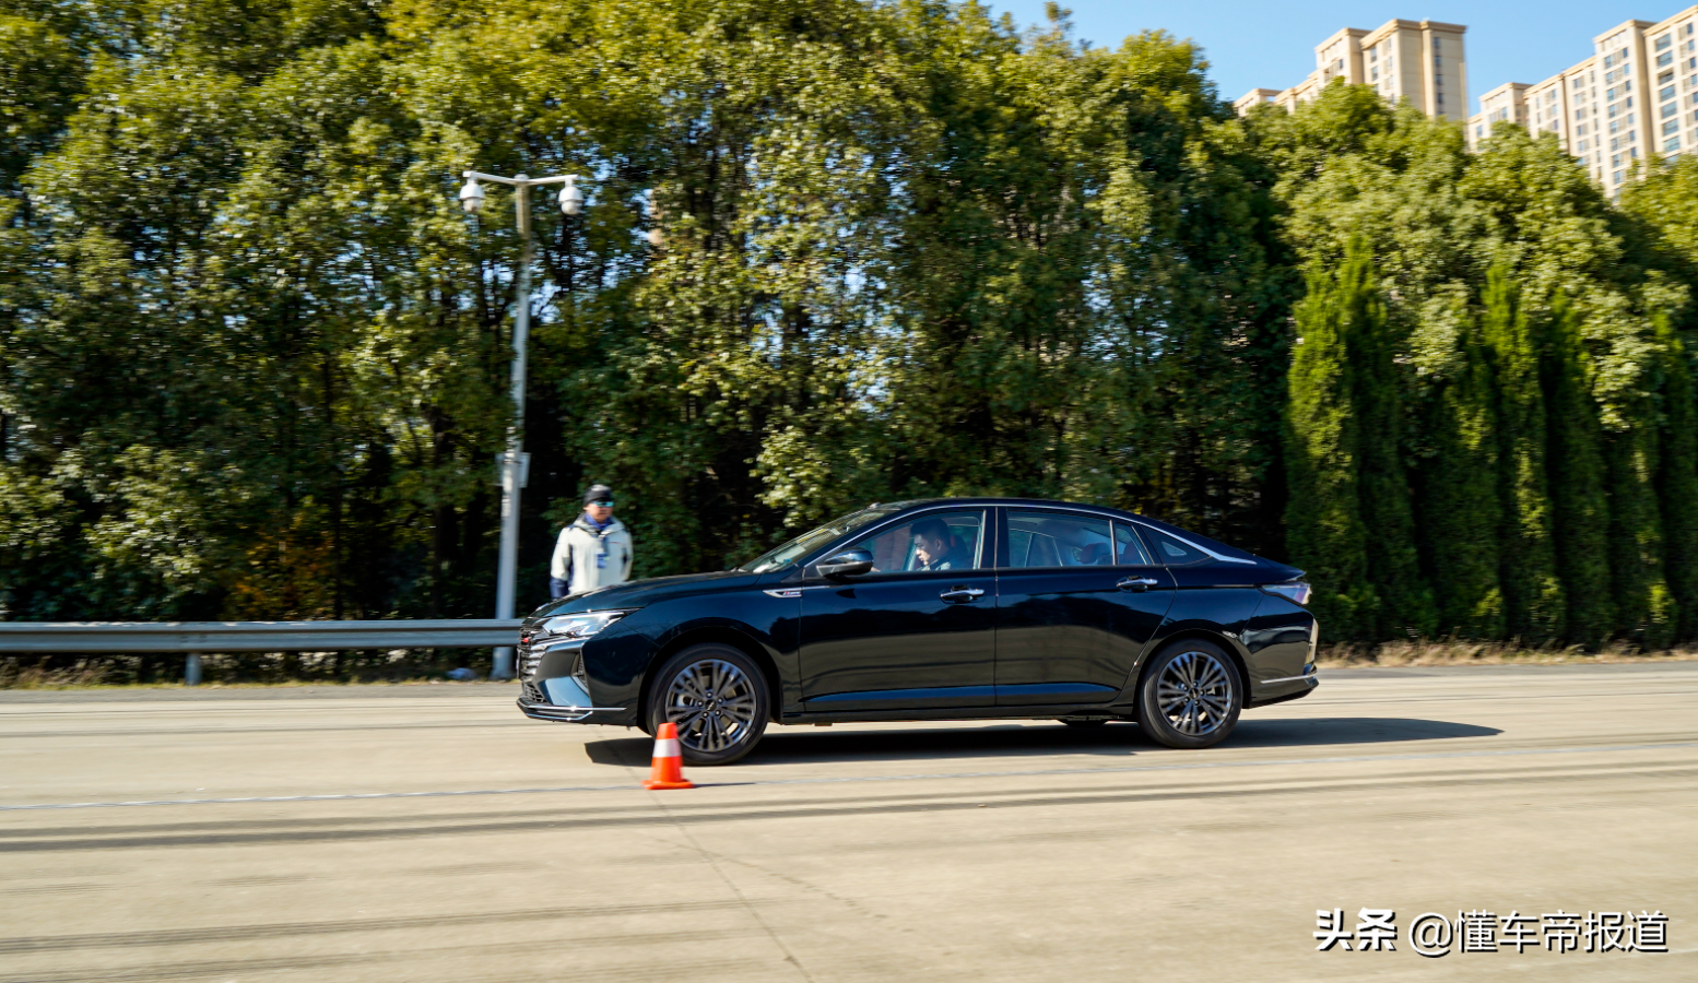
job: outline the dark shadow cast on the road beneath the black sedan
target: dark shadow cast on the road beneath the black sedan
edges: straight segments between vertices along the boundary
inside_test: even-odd
[[[1445,720],[1411,720],[1399,716],[1323,716],[1311,720],[1243,720],[1221,745],[1229,747],[1324,747],[1348,744],[1387,744],[1403,740],[1438,740],[1453,737],[1493,737],[1493,727],[1452,723]],[[649,764],[654,742],[647,737],[591,740],[584,744],[589,761],[642,767]],[[767,728],[759,747],[742,759],[742,766],[798,764],[818,761],[936,761],[971,757],[1053,757],[1088,754],[1126,757],[1131,754],[1170,750],[1138,730],[1136,723],[1109,723],[1095,728],[1054,725],[992,723],[985,727],[927,727],[891,730]]]

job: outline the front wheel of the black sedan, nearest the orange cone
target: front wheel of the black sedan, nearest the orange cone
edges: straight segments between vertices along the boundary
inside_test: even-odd
[[[683,649],[649,682],[647,730],[659,733],[662,723],[676,723],[686,764],[740,759],[761,742],[771,713],[766,674],[730,645]]]

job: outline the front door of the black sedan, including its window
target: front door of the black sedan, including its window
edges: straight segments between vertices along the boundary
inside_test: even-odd
[[[988,513],[908,516],[854,543],[873,553],[873,572],[801,587],[808,711],[995,705]],[[927,557],[922,540],[942,542],[942,555]]]

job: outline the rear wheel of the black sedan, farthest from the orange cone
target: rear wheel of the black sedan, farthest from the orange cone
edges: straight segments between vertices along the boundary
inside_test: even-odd
[[[1214,747],[1238,727],[1243,706],[1238,666],[1200,638],[1158,652],[1138,682],[1138,727],[1168,747]]]

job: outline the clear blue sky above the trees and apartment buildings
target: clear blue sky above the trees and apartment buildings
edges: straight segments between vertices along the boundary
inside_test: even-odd
[[[983,0],[1020,24],[1043,24],[1043,0]],[[1662,20],[1691,5],[1679,0],[1605,3],[1601,0],[1397,0],[1343,3],[1309,0],[1071,0],[1073,36],[1117,48],[1127,34],[1160,27],[1202,44],[1209,76],[1228,100],[1245,92],[1285,88],[1314,71],[1314,46],[1340,27],[1372,31],[1392,17],[1465,24],[1469,114],[1479,97],[1504,81],[1540,81],[1591,54],[1591,39],[1623,20]]]

